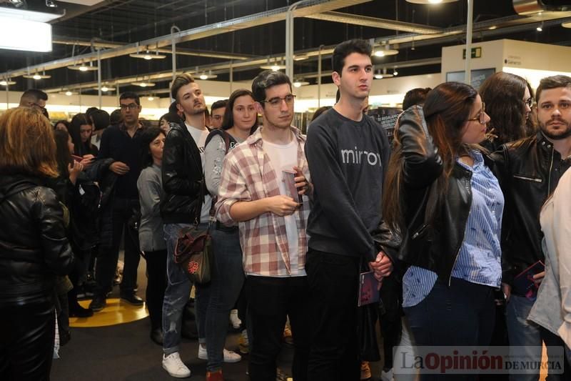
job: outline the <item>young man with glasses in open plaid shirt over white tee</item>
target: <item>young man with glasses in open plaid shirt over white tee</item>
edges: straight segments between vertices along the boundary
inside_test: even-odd
[[[238,222],[240,229],[251,317],[250,380],[276,380],[289,316],[293,379],[303,381],[308,380],[310,326],[305,224],[311,185],[305,135],[291,126],[295,95],[288,76],[263,71],[253,80],[252,93],[263,127],[224,159],[218,220]]]

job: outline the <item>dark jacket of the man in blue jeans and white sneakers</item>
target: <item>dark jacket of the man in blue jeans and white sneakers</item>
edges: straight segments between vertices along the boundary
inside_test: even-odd
[[[161,167],[165,197],[161,217],[165,224],[192,224],[200,219],[206,185],[201,153],[184,124],[168,132]]]

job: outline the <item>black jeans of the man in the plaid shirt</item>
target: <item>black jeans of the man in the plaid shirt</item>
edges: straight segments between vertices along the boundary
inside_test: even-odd
[[[309,353],[307,277],[246,277],[252,338],[248,372],[251,381],[276,380],[276,358],[290,317],[293,336],[293,380],[305,381]]]

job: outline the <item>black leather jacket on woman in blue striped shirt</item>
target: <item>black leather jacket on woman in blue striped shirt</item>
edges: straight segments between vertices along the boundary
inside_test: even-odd
[[[408,265],[430,269],[450,282],[464,240],[472,205],[472,172],[456,163],[448,179],[448,191],[438,200],[436,180],[443,162],[428,134],[422,107],[410,107],[398,119],[398,139],[403,149],[401,192],[407,228],[398,258]],[[485,163],[492,160],[484,155]],[[434,219],[425,216],[433,210]]]

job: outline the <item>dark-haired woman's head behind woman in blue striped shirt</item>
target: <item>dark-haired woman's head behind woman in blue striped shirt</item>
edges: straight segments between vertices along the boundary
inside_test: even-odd
[[[486,138],[480,142],[490,152],[507,142],[534,134],[528,132],[527,121],[532,112],[530,85],[521,76],[500,71],[480,86],[480,96],[490,115]]]

